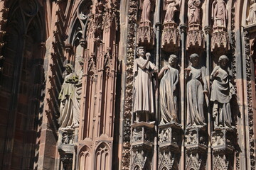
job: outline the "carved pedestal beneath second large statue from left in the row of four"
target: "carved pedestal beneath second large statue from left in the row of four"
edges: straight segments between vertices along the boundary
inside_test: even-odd
[[[159,125],[158,169],[178,169],[181,125],[178,123]]]

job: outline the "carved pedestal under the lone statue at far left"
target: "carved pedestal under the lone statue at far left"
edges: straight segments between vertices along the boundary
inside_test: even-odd
[[[60,128],[58,130],[58,152],[60,153],[61,170],[74,170],[75,164],[75,130]]]

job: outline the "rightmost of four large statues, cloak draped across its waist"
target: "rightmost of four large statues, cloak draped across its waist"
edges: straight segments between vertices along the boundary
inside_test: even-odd
[[[213,69],[210,80],[213,81],[210,101],[213,101],[214,128],[232,128],[230,99],[234,94],[234,87],[230,83],[227,56],[220,56],[219,66]]]

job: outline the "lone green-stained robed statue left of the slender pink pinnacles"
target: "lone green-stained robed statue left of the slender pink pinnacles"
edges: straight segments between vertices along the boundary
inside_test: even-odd
[[[75,84],[78,81],[72,64],[66,64],[65,71],[66,75],[58,97],[60,100],[60,128],[73,125]]]

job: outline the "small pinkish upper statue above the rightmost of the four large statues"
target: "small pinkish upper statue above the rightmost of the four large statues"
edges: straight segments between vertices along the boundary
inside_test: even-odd
[[[227,28],[228,10],[224,0],[214,0],[212,4],[213,28]]]

